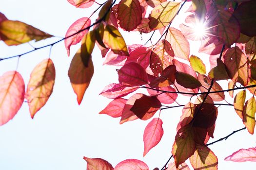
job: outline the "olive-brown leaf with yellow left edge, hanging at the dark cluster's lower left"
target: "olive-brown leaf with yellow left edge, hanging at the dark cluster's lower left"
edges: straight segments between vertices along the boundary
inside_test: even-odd
[[[185,162],[196,150],[194,134],[192,127],[186,125],[180,128],[175,136],[175,142],[172,148],[172,154],[175,159],[176,168],[179,164]]]

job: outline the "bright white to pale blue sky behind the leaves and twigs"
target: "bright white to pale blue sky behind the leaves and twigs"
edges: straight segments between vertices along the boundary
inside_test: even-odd
[[[68,27],[80,17],[89,17],[98,5],[89,9],[77,9],[67,0],[1,0],[0,12],[11,20],[20,20],[33,25],[42,31],[64,37]],[[96,17],[96,16],[95,16]],[[92,18],[92,22],[95,20]],[[182,18],[182,15],[179,15]],[[175,22],[181,21],[177,18]],[[178,24],[176,24],[178,25]],[[127,44],[144,44],[149,35],[122,32]],[[32,42],[40,47],[58,40],[50,38],[40,42]],[[195,46],[194,46],[195,45]],[[197,54],[197,44],[192,45],[191,54]],[[171,155],[171,148],[176,135],[176,126],[181,115],[181,108],[162,111],[164,135],[158,146],[145,157],[143,155],[143,131],[150,121],[136,120],[119,125],[114,119],[98,113],[111,101],[98,94],[105,85],[118,83],[115,67],[102,66],[104,59],[96,47],[93,52],[95,74],[80,105],[67,76],[72,56],[79,46],[71,48],[71,57],[67,57],[64,43],[52,48],[51,59],[56,68],[56,81],[52,96],[46,105],[31,119],[27,103],[23,103],[20,111],[7,124],[0,127],[0,169],[1,170],[85,170],[83,156],[100,157],[109,161],[114,167],[124,159],[136,158],[144,161],[150,169],[161,168]],[[0,58],[17,55],[31,50],[28,44],[7,47],[0,42]],[[49,48],[35,51],[20,58],[18,71],[28,83],[30,72],[49,55]],[[15,70],[17,58],[0,62],[0,75]],[[209,71],[209,68],[208,70]],[[227,85],[223,87],[227,89]],[[228,94],[226,94],[228,96]],[[178,97],[181,104],[188,98]],[[229,102],[233,99],[228,98]],[[231,106],[218,109],[214,141],[220,137],[244,127]],[[158,114],[156,114],[156,117]],[[217,155],[219,170],[250,169],[253,163],[225,162],[224,158],[240,148],[256,146],[255,136],[242,131],[231,136],[227,141],[210,146]],[[174,161],[172,159],[172,161]]]

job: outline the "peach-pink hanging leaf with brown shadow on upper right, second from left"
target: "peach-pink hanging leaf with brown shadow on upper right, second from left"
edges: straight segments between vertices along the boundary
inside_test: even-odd
[[[41,61],[31,72],[26,99],[31,118],[45,105],[53,92],[55,67],[51,59]]]

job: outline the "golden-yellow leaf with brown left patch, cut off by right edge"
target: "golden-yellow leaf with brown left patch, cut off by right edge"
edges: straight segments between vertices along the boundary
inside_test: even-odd
[[[248,101],[245,102],[245,105],[242,111],[243,123],[250,134],[254,134],[255,112],[256,112],[256,101],[253,96]]]

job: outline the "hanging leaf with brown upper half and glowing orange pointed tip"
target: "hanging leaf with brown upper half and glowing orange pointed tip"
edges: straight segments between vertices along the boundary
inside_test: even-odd
[[[78,104],[82,102],[83,95],[91,82],[93,73],[94,67],[92,59],[89,59],[88,67],[85,67],[82,62],[79,49],[76,55],[73,57],[68,70],[70,83],[73,87],[74,92],[77,95]]]

